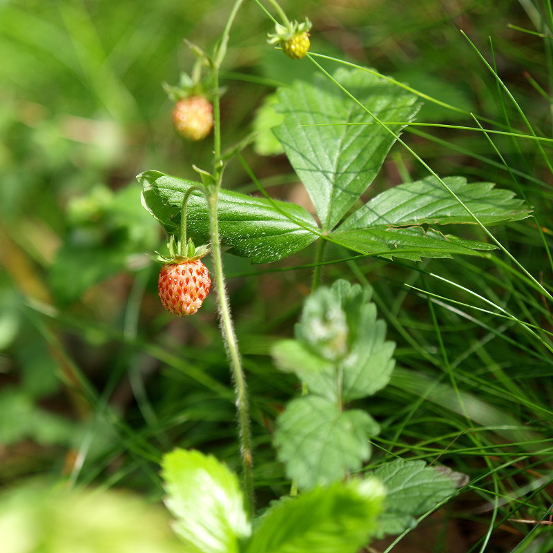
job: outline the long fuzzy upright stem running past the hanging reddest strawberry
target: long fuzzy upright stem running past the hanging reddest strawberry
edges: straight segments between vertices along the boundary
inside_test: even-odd
[[[220,46],[215,55],[215,64],[213,68],[213,90],[219,90],[219,68],[226,45],[229,41],[229,33],[232,23],[235,19],[238,9],[244,0],[237,0],[229,16],[229,20],[224,28]],[[217,298],[217,309],[221,324],[222,337],[226,347],[226,353],[231,365],[231,372],[235,384],[235,401],[238,418],[238,431],[240,437],[240,453],[242,455],[243,467],[243,485],[244,496],[251,514],[254,513],[253,503],[253,463],[252,463],[252,441],[249,416],[249,401],[246,389],[246,378],[244,369],[242,369],[242,360],[240,359],[240,350],[231,316],[231,307],[229,304],[229,295],[226,290],[226,280],[223,271],[223,262],[221,255],[221,242],[219,234],[219,217],[217,212],[217,202],[219,190],[222,182],[222,173],[224,165],[220,162],[221,158],[221,117],[220,117],[220,99],[215,94],[213,99],[213,146],[214,146],[214,171],[213,182],[207,186],[207,200],[209,208],[209,224],[211,229],[211,256],[213,259],[213,271],[215,273],[215,291]]]

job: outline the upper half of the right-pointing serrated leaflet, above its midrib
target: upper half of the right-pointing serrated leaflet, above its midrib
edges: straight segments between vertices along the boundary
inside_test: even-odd
[[[531,211],[523,207],[523,200],[514,198],[513,192],[494,188],[492,182],[468,184],[463,177],[445,177],[443,181],[483,224],[517,221]],[[378,194],[337,231],[452,223],[474,224],[474,219],[436,177],[427,177]]]

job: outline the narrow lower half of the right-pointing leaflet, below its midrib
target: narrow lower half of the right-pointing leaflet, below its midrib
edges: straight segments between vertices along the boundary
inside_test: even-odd
[[[480,250],[495,249],[495,246],[485,242],[463,240],[434,229],[425,230],[421,226],[336,231],[331,238],[336,244],[360,253],[413,261],[420,261],[420,258],[452,258],[454,254],[481,255]]]

